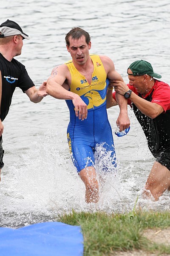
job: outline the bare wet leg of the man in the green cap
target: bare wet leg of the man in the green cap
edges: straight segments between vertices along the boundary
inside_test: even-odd
[[[146,190],[150,190],[150,193],[155,198],[155,201],[159,200],[159,197],[163,194],[163,192],[170,189],[170,171],[165,166],[155,162],[144,188]],[[143,197],[150,198],[150,193],[144,190]]]

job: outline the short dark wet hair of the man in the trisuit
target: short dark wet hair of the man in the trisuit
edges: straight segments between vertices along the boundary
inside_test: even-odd
[[[72,28],[66,35],[65,35],[65,42],[66,45],[70,45],[69,42],[69,38],[71,37],[72,39],[80,39],[82,37],[82,35],[85,36],[85,41],[88,44],[91,41],[91,37],[88,34],[88,32],[86,32],[84,29],[81,29],[79,27],[74,27]]]

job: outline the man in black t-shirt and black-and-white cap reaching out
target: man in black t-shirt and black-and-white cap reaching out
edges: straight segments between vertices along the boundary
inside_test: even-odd
[[[24,38],[30,39],[16,22],[6,20],[0,25],[0,172],[4,165],[2,121],[8,114],[15,88],[20,87],[34,103],[40,102],[47,95],[46,82],[37,90],[25,66],[14,59],[21,54]]]

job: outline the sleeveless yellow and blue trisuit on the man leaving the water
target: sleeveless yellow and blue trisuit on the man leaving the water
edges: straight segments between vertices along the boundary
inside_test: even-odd
[[[70,111],[67,130],[68,145],[77,172],[85,167],[94,166],[95,157],[100,157],[103,163],[102,170],[109,172],[111,171],[109,165],[103,159],[109,154],[108,158],[113,164],[112,168],[116,169],[116,156],[111,125],[106,111],[106,72],[99,55],[90,56],[94,64],[91,84],[88,84],[85,76],[79,73],[72,61],[65,63],[71,73],[70,91],[78,94],[88,108],[87,119],[82,121],[75,115],[72,100],[66,100]],[[98,145],[104,150],[100,151],[100,156],[94,157]]]

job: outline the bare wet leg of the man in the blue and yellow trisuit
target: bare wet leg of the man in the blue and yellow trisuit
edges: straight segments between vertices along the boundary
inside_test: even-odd
[[[99,184],[96,177],[96,170],[93,166],[86,167],[80,171],[79,176],[85,183],[86,203],[97,203],[99,201]]]

